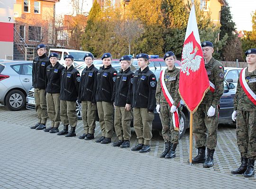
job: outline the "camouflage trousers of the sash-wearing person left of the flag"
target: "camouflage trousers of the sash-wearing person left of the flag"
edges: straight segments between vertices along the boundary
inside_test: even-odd
[[[171,107],[168,103],[160,103],[160,120],[162,122],[162,135],[165,142],[170,141],[171,143],[179,142],[179,131],[174,129],[173,113],[170,112]],[[178,108],[180,116],[180,108]],[[180,118],[180,117],[179,117]]]

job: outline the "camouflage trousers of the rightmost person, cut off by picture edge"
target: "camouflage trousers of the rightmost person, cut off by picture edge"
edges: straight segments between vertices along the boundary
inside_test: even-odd
[[[256,159],[256,112],[238,111],[237,140],[241,156]]]

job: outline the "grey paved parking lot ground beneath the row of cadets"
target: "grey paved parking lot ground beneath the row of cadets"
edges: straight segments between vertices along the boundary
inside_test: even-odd
[[[187,164],[188,131],[177,147],[177,157],[166,160],[159,158],[164,141],[158,132],[145,155],[29,129],[37,122],[32,110],[10,112],[0,106],[0,118],[0,188],[209,188],[210,182],[211,188],[255,188],[255,177],[230,174],[240,163],[234,126],[219,126],[215,165],[204,169],[202,164]],[[82,121],[76,133],[82,134]],[[101,136],[98,124],[95,136]],[[131,147],[136,143],[133,132]]]

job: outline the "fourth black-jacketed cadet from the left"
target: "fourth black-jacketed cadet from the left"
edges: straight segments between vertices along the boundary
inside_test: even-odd
[[[79,86],[79,101],[82,102],[82,122],[84,133],[80,139],[94,139],[95,121],[97,105],[95,100],[94,85],[98,69],[92,64],[94,56],[91,53],[84,55],[83,60],[87,65],[82,71],[81,82]]]

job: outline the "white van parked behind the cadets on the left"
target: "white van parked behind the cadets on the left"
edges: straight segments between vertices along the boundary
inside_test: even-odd
[[[77,67],[81,65],[84,60],[83,57],[86,53],[89,53],[88,51],[78,51],[78,50],[71,50],[71,49],[50,49],[49,54],[56,52],[58,56],[58,61],[60,64],[65,66],[65,60],[64,57],[68,54],[71,54],[74,57],[74,67]]]

